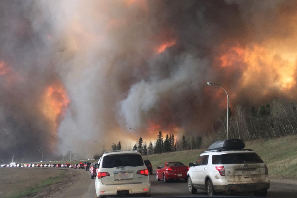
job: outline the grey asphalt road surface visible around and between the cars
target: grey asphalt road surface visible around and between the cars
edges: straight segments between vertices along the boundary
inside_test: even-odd
[[[94,198],[95,192],[95,179],[91,180],[89,171],[80,171],[80,180],[73,186],[66,189],[64,192],[56,194],[55,198]],[[151,197],[173,197],[173,196],[199,196],[207,195],[206,191],[199,191],[197,194],[192,195],[188,191],[187,183],[184,180],[171,181],[164,183],[162,180],[157,181],[155,175],[150,175],[151,180]],[[245,194],[252,195],[252,194]],[[237,196],[236,196],[237,197]],[[296,198],[297,197],[297,181],[295,180],[275,180],[271,179],[271,186],[268,190],[268,197],[279,198]]]

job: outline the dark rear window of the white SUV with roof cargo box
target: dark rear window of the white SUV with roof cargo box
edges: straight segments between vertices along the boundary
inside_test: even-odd
[[[264,163],[256,153],[228,153],[213,155],[212,164],[256,164]]]

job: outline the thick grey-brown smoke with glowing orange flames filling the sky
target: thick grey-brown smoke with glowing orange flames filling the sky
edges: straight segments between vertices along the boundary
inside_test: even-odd
[[[42,150],[51,159],[67,146],[89,158],[111,143],[132,147],[128,128],[147,142],[158,130],[211,132],[226,98],[207,81],[228,90],[231,107],[293,98],[296,8],[294,1],[1,1],[0,158],[39,160]]]

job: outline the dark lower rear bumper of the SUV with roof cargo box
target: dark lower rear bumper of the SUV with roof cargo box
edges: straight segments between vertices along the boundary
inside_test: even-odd
[[[216,192],[252,192],[267,190],[269,187],[270,183],[238,183],[224,186],[214,186],[214,190]]]

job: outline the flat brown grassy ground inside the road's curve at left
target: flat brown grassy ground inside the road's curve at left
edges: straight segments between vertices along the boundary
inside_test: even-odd
[[[80,173],[76,170],[56,168],[1,168],[0,175],[0,197],[20,197],[19,194],[40,183],[59,178],[58,183],[43,186],[37,193],[27,196],[49,197],[76,183],[80,178]]]

